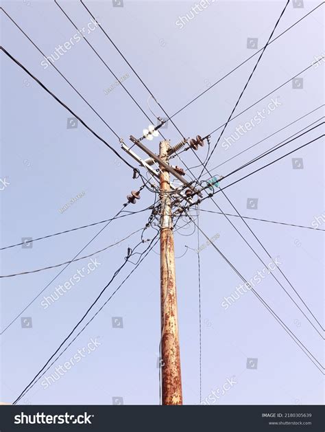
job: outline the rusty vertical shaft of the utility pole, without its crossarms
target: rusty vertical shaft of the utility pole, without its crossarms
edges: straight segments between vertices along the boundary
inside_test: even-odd
[[[169,141],[160,142],[160,158],[168,162]],[[170,176],[160,166],[160,302],[161,376],[163,405],[182,405],[180,341],[176,297],[176,269],[171,220]]]

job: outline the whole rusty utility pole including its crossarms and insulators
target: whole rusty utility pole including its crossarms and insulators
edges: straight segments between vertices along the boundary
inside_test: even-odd
[[[160,125],[162,126],[162,124]],[[159,126],[159,127],[160,127]],[[149,126],[150,128],[150,126]],[[153,133],[154,128],[152,126]],[[174,153],[181,150],[188,139],[183,139],[175,146],[171,147],[169,141],[163,140],[159,146],[159,156],[147,148],[141,139],[136,139],[132,135],[130,141],[134,143],[141,151],[145,152],[149,159],[141,159],[132,148],[128,148],[121,140],[121,148],[128,153],[133,159],[140,163],[140,166],[147,169],[152,177],[160,181],[160,303],[161,303],[161,339],[160,339],[160,372],[162,377],[162,402],[163,405],[182,405],[182,378],[180,372],[180,340],[178,337],[178,310],[176,295],[176,266],[175,251],[173,243],[173,219],[171,197],[178,196],[178,202],[186,201],[193,205],[193,196],[201,196],[200,190],[197,190],[191,183],[184,179],[184,171],[177,166],[169,165],[169,158]],[[154,135],[156,136],[156,135]],[[189,148],[197,150],[204,145],[204,139],[197,135],[196,139],[189,141]],[[151,139],[149,139],[151,141]],[[133,147],[133,146],[132,146]],[[187,148],[187,150],[189,149]],[[158,164],[159,170],[152,168]],[[170,176],[176,177],[182,187],[176,187],[171,184]],[[187,190],[185,190],[187,187]],[[135,203],[135,191],[132,192],[130,200]],[[128,196],[129,198],[129,196]],[[182,212],[182,209],[181,209]]]

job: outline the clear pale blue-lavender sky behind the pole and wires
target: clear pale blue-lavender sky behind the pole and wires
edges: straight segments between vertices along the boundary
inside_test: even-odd
[[[79,1],[59,3],[78,28],[86,27],[91,21]],[[113,7],[112,1],[86,1],[169,115],[252,56],[256,49],[248,48],[248,38],[257,38],[258,49],[263,47],[285,3],[283,0],[216,1],[181,29],[176,21],[191,10],[193,3],[188,1],[125,0],[123,7]],[[321,1],[305,0],[302,8],[294,7],[293,3],[290,1],[274,37]],[[53,1],[1,1],[1,5],[47,56],[76,34],[71,22]],[[148,91],[104,33],[97,28],[86,38],[117,77],[129,74],[123,84],[152,122],[156,124],[149,108],[156,116],[165,117],[154,100],[149,100],[148,107]],[[51,65],[47,69],[40,65],[43,56],[2,11],[1,45],[98,135],[123,152],[117,137],[62,76]],[[324,62],[309,67],[315,57],[324,54],[323,3],[267,47],[234,115],[254,106],[228,124],[208,169],[213,175],[225,176],[309,125],[321,126],[233,174],[225,179],[223,187],[324,135]],[[258,55],[254,56],[173,118],[185,137],[208,135],[226,122],[257,58]],[[82,124],[67,128],[71,113],[3,52],[0,59],[0,178],[10,183],[0,192],[0,246],[95,223],[117,214],[126,195],[139,188],[141,180],[133,180],[132,170]],[[125,144],[130,144],[130,135],[141,137],[149,120],[121,85],[105,93],[116,79],[85,41],[75,43],[54,65],[119,137],[123,137]],[[309,69],[301,73],[307,67]],[[298,89],[293,88],[293,76],[302,78]],[[278,87],[280,89],[274,91]],[[264,98],[268,93],[272,94]],[[277,98],[280,106],[226,150],[222,145],[225,139],[234,134],[240,124],[251,122],[258,111],[267,109],[272,98]],[[256,104],[258,100],[261,102]],[[292,122],[295,123],[285,127]],[[284,129],[277,133],[281,128]],[[220,131],[211,136],[213,146]],[[171,122],[162,132],[171,139],[171,144],[181,139]],[[247,150],[261,140],[264,141]],[[159,138],[145,142],[158,152]],[[237,156],[243,150],[247,151]],[[202,160],[206,151],[204,147],[197,153]],[[144,157],[140,150],[136,152]],[[132,165],[136,164],[128,155],[123,156]],[[187,166],[197,165],[192,152],[185,152],[181,157]],[[293,169],[292,158],[302,158],[303,169]],[[185,168],[178,158],[173,159],[173,163]],[[200,168],[193,169],[195,175],[200,171]],[[144,170],[141,172],[145,175]],[[208,177],[204,175],[204,179]],[[85,192],[82,198],[60,213],[71,198],[82,192]],[[316,216],[325,216],[324,137],[231,185],[225,194],[242,216],[312,227]],[[257,198],[256,209],[247,208],[249,198]],[[235,214],[221,193],[215,195],[215,201],[223,212]],[[132,210],[144,209],[153,202],[154,194],[143,190],[141,200]],[[201,209],[219,212],[210,200],[204,201]],[[93,253],[128,236],[143,227],[148,217],[149,211],[115,220],[83,254]],[[232,216],[230,220],[263,262],[269,264],[269,256],[243,221]],[[272,275],[265,277],[256,291],[322,366],[319,365],[319,370],[313,364],[311,355],[306,355],[291,339],[252,292],[239,297],[227,310],[221,306],[224,297],[229,297],[241,280],[209,245],[200,253],[202,400],[232,377],[236,384],[215,404],[323,404],[324,231],[260,220],[247,220],[247,223],[272,258],[279,257],[280,269],[287,280],[279,271],[274,275],[311,322]],[[71,260],[103,226],[40,240],[32,243],[32,248],[19,246],[0,251],[1,275]],[[209,238],[219,234],[217,247],[246,280],[263,269],[263,263],[225,216],[200,212],[200,227]],[[319,227],[325,229],[322,218]],[[145,237],[153,238],[155,234],[154,229],[149,229]],[[47,309],[41,305],[43,297],[69,281],[89,259],[72,263],[53,282],[61,268],[1,279],[0,400],[12,402],[19,396],[123,263],[128,247],[134,247],[139,240],[139,234],[135,234],[121,245],[95,255],[101,265]],[[201,234],[199,245],[205,242]],[[199,404],[197,253],[190,249],[197,248],[195,227],[177,231],[175,243],[176,257],[182,257],[176,260],[176,277],[184,404]],[[43,377],[20,404],[110,405],[116,398],[123,398],[125,405],[159,403],[158,247],[154,251],[45,376],[53,374],[56,365],[69,361],[78,349],[86,347],[91,338],[97,338],[101,345],[47,389],[41,385]],[[132,263],[123,268],[90,317],[133,268]],[[113,328],[112,317],[121,317],[123,328]],[[29,328],[23,328],[23,322],[29,322]],[[248,367],[252,364],[248,359],[254,359],[254,369]]]

